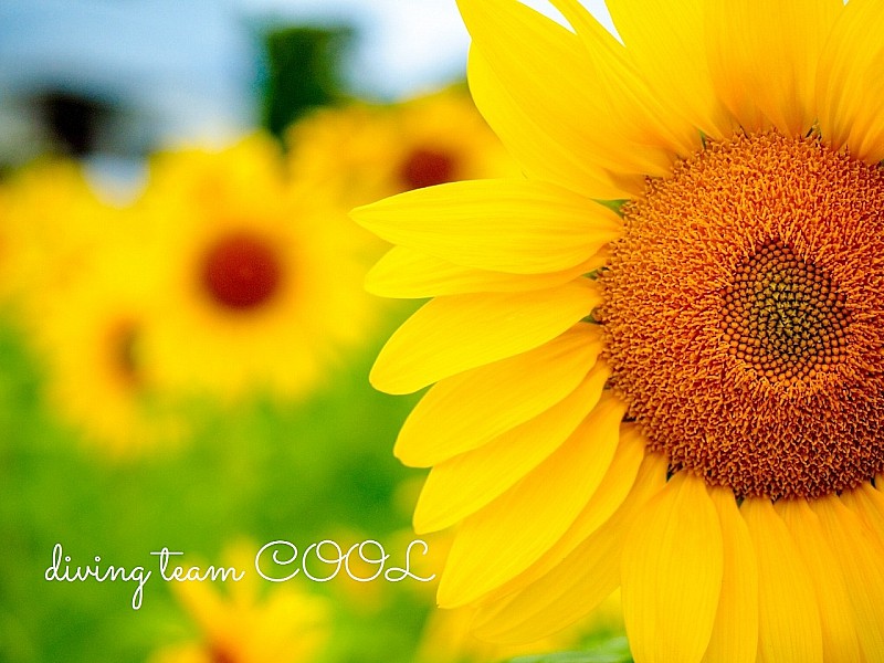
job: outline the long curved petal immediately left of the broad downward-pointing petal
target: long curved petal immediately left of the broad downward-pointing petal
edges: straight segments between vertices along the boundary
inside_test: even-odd
[[[645,457],[627,499],[611,518],[538,579],[503,601],[483,606],[475,633],[495,642],[532,642],[589,614],[618,585],[625,529],[635,514],[666,483],[669,463]]]

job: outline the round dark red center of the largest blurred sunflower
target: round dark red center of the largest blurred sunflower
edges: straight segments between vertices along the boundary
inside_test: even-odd
[[[280,288],[278,256],[265,240],[249,234],[221,239],[206,254],[202,283],[212,299],[233,311],[266,304]]]

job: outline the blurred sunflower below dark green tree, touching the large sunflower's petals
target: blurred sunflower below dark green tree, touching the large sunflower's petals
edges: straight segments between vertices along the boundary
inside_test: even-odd
[[[388,106],[324,108],[288,131],[293,173],[347,209],[461,179],[515,175],[515,165],[465,91]]]

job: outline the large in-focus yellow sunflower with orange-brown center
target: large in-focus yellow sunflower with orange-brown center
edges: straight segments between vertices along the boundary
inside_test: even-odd
[[[396,453],[460,523],[440,604],[530,640],[619,586],[639,663],[884,661],[884,7],[459,4],[525,178],[355,212],[435,297],[371,380],[438,382]]]

